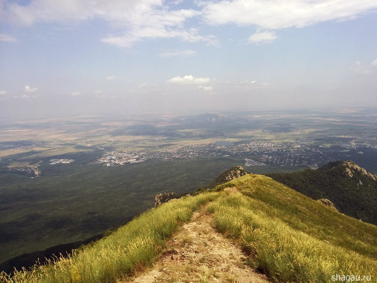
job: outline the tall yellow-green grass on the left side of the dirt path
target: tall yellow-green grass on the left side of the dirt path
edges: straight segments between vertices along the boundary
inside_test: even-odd
[[[7,283],[100,283],[116,282],[151,266],[166,239],[178,226],[190,220],[192,212],[218,196],[206,193],[184,197],[150,209],[113,234],[48,265],[32,271],[18,271],[13,277],[2,273]]]

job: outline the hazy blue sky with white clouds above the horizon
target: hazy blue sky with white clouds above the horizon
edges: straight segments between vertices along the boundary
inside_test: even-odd
[[[376,0],[0,0],[0,119],[377,107]]]

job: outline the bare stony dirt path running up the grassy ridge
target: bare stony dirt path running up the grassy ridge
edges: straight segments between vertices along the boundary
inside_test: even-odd
[[[241,249],[216,232],[211,215],[202,208],[167,243],[153,268],[133,282],[268,282],[241,258]]]

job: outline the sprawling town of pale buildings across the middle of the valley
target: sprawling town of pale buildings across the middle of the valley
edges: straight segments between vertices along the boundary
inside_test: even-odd
[[[370,141],[369,146],[371,146]],[[375,140],[377,145],[377,140]],[[349,151],[349,150],[347,150]],[[320,166],[329,161],[339,160],[337,154],[342,150],[324,150],[319,145],[308,141],[271,142],[252,141],[248,143],[218,145],[182,145],[165,151],[155,151],[143,154],[129,152],[105,151],[103,157],[92,163],[105,163],[107,166],[124,165],[126,163],[143,162],[155,158],[159,160],[190,160],[205,156],[233,156],[245,158],[246,166],[255,165],[313,165]]]

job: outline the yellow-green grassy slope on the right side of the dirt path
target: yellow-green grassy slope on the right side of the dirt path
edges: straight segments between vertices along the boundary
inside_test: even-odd
[[[238,240],[270,280],[317,283],[329,282],[335,274],[377,277],[376,226],[265,176],[246,175],[226,186],[241,192],[217,198],[208,212],[218,230]]]

